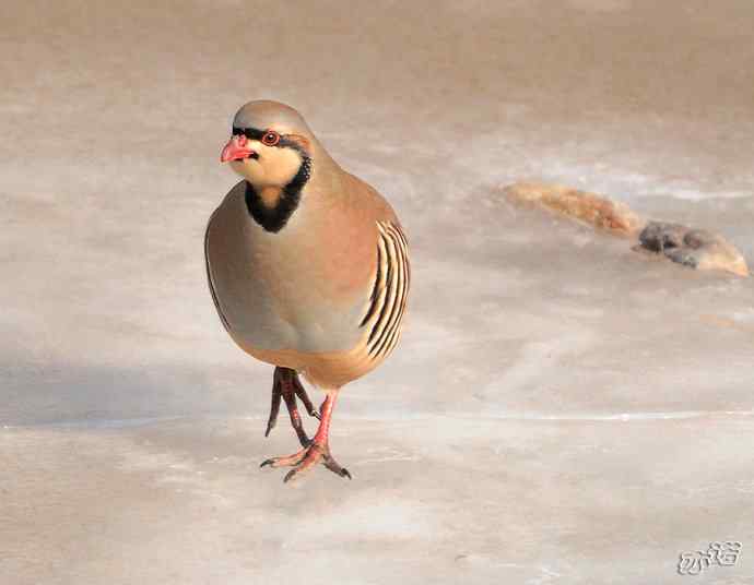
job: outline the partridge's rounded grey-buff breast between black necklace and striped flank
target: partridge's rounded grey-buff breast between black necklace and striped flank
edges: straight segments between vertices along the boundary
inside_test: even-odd
[[[272,234],[249,215],[239,184],[210,219],[210,287],[241,345],[328,353],[346,351],[360,341],[376,266],[376,227],[358,213],[308,203]]]

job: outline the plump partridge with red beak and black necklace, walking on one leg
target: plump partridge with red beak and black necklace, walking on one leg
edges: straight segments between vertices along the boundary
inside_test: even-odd
[[[330,451],[332,413],[341,389],[382,363],[401,337],[411,284],[404,229],[285,104],[240,107],[220,160],[241,180],[207,225],[209,288],[235,344],[274,366],[264,435],[282,399],[301,443],[261,467],[291,467],[285,482],[318,464],[351,479]],[[325,393],[319,409],[299,377]],[[297,401],[318,419],[311,438]]]

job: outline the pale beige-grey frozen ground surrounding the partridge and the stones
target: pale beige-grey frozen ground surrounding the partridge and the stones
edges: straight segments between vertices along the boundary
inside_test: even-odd
[[[753,27],[749,0],[5,7],[0,583],[754,582],[753,280],[499,190],[602,191],[752,263]],[[350,482],[257,469],[295,441],[204,284],[259,97],[411,235],[404,339],[335,413]],[[735,566],[675,573],[720,539]]]

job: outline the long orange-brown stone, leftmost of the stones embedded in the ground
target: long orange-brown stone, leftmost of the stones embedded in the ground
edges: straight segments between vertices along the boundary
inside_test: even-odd
[[[645,225],[624,203],[569,187],[517,182],[503,192],[516,203],[534,204],[616,236],[635,236]]]

